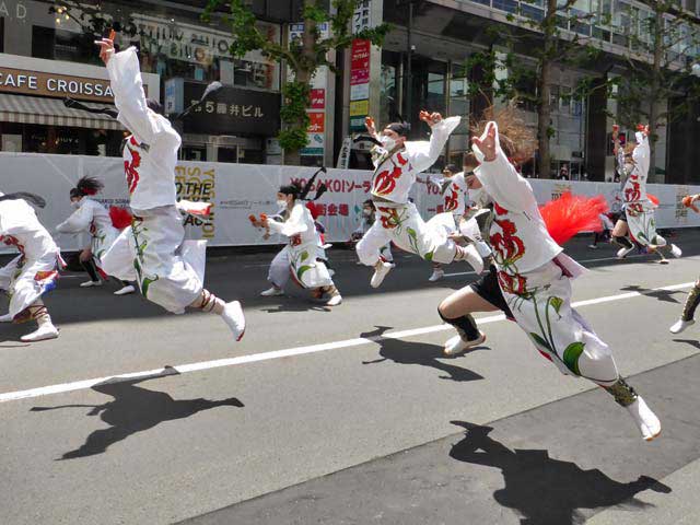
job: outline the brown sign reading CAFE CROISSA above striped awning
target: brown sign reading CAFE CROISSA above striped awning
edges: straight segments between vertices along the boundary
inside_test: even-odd
[[[0,67],[0,93],[114,103],[108,80]]]

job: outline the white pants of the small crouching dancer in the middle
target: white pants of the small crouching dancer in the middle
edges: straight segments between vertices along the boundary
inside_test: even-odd
[[[306,289],[334,285],[328,267],[318,260],[323,255],[315,244],[284,246],[272,259],[267,278],[277,288],[284,288],[290,277]]]

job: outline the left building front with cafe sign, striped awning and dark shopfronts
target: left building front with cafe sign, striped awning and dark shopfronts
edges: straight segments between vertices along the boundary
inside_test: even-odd
[[[94,39],[117,30],[119,48],[139,48],[147,96],[170,114],[198,98],[207,83],[224,90],[178,122],[186,160],[281,163],[275,139],[281,104],[280,65],[259,52],[229,54],[225,27],[201,21],[203,0],[102,2],[0,0],[0,137],[2,151],[118,155],[121,126],[68,108],[70,96],[113,104]],[[285,37],[298,1],[253,2],[258,28]]]

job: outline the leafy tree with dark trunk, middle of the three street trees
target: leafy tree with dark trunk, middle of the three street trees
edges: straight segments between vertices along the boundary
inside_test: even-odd
[[[604,16],[578,10],[576,3],[576,0],[545,0],[542,9],[521,4],[515,14],[506,16],[515,25],[490,26],[487,37],[491,48],[472,55],[468,60],[482,68],[508,69],[505,78],[493,73],[483,77],[487,82],[494,82],[494,98],[516,98],[536,108],[540,178],[548,178],[550,174],[549,142],[555,135],[550,101],[553,69],[556,66],[592,66],[603,52],[599,43],[591,35],[593,23],[602,23]],[[494,45],[501,46],[504,52],[498,52]],[[523,55],[530,58],[532,65],[522,59]],[[583,77],[564,96],[584,100],[594,90],[607,85],[598,80],[600,75]],[[480,92],[483,88],[479,84],[472,86]]]

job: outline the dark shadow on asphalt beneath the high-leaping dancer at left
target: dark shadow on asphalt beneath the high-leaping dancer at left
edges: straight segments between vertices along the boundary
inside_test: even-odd
[[[137,432],[175,419],[184,419],[202,410],[217,407],[243,407],[235,397],[211,401],[209,399],[173,399],[168,394],[136,386],[149,380],[177,375],[177,371],[166,366],[162,372],[145,377],[122,381],[113,378],[92,387],[93,390],[110,396],[113,401],[103,405],[59,405],[56,407],[33,407],[34,412],[59,408],[92,408],[88,416],[100,416],[109,428],[95,430],[79,448],[69,451],[61,459],[94,456],[104,453],[110,445],[126,440]]]

